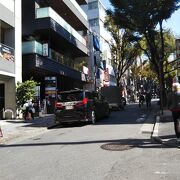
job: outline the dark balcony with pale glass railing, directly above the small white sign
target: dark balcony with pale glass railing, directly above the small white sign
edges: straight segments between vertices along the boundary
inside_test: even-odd
[[[50,7],[36,9],[36,33],[44,40],[50,37],[51,46],[58,44],[59,50],[71,50],[75,57],[89,53],[85,38]]]

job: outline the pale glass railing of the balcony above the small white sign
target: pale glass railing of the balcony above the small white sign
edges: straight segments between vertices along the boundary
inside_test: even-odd
[[[36,9],[36,19],[50,17],[66,29],[71,35],[73,35],[77,40],[86,46],[86,40],[74,29],[72,28],[61,16],[59,16],[52,8],[38,8]]]

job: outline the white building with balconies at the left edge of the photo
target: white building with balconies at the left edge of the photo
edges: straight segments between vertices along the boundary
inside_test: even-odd
[[[16,111],[15,87],[22,77],[21,0],[0,0],[0,119]]]

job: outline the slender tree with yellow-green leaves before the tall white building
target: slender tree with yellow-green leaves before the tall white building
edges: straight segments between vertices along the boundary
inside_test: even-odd
[[[117,86],[120,86],[123,74],[140,54],[140,49],[136,43],[129,40],[132,32],[128,29],[121,29],[111,16],[106,16],[104,26],[112,35],[110,43],[112,64],[116,70]]]

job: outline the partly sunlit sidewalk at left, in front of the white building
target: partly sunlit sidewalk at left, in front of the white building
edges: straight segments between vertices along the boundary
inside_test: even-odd
[[[3,137],[0,137],[0,144],[11,143],[12,140],[23,140],[47,131],[47,127],[54,124],[54,115],[46,114],[43,117],[35,117],[25,122],[21,119],[0,120],[0,127]]]

